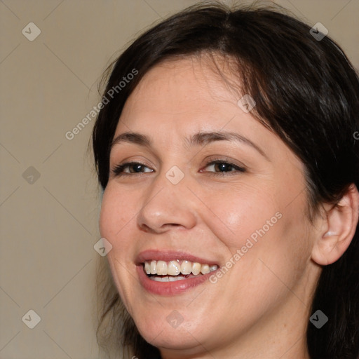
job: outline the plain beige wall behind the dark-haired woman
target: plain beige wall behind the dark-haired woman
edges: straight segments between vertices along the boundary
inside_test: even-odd
[[[99,101],[97,83],[114,54],[196,2],[0,1],[0,358],[99,358],[99,199],[86,154],[93,121],[72,140],[65,133]],[[322,22],[359,68],[358,0],[276,2]],[[34,41],[22,34],[29,22],[41,30]],[[32,330],[22,322],[30,309],[41,317]]]

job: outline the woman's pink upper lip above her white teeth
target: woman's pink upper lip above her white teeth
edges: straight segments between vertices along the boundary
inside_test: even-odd
[[[212,259],[196,257],[195,255],[191,255],[180,250],[144,250],[143,252],[140,252],[139,255],[137,255],[135,262],[138,265],[143,264],[145,261],[149,262],[151,260],[170,262],[171,260],[176,259],[208,264],[210,266],[215,264],[218,265],[218,262]]]

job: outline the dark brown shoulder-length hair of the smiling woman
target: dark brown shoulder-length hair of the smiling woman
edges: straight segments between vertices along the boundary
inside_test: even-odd
[[[203,4],[172,15],[138,37],[111,65],[103,102],[123,76],[134,69],[137,74],[121,90],[117,88],[93,129],[102,189],[109,179],[109,146],[123,105],[144,74],[164,60],[203,54],[235,61],[234,79],[241,79],[238,89],[256,102],[253,116],[278,134],[304,163],[310,219],[321,203],[335,204],[351,184],[359,187],[359,141],[353,136],[359,128],[358,76],[337,43],[328,36],[318,41],[310,29],[278,8]],[[308,322],[312,359],[358,358],[358,264],[357,227],[344,255],[323,267],[312,309],[320,309],[330,320],[320,330]],[[99,329],[110,318],[116,335],[138,358],[161,358],[140,337],[114,283],[108,280]]]

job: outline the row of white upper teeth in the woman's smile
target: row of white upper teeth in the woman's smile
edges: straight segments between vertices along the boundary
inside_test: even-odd
[[[170,262],[165,261],[146,261],[144,262],[144,271],[147,274],[157,274],[158,276],[178,276],[182,274],[194,274],[199,273],[207,274],[211,271],[218,269],[218,266],[209,266],[208,264],[201,264],[198,262],[189,262],[179,260],[172,260]]]

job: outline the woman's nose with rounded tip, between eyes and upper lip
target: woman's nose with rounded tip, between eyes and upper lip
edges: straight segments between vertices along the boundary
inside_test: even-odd
[[[142,198],[137,224],[144,231],[163,233],[174,226],[191,229],[196,225],[195,196],[186,185],[186,178],[172,184],[164,174],[158,175]]]

